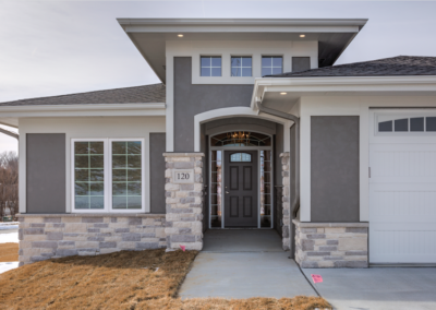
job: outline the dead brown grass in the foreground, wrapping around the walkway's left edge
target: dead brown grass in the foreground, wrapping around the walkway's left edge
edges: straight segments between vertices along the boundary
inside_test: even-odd
[[[0,274],[0,309],[315,309],[322,298],[175,297],[196,252],[122,251],[70,257]]]

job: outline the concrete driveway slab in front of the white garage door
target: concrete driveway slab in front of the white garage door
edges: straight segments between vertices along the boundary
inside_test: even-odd
[[[340,310],[436,309],[436,269],[373,267],[303,270],[323,276],[319,294]]]

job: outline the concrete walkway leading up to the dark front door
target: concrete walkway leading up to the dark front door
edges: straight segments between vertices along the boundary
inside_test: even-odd
[[[275,230],[207,230],[180,297],[316,296]]]

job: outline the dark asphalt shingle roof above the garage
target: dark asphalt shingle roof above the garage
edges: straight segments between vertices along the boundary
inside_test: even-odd
[[[264,78],[436,75],[436,57],[397,56]]]

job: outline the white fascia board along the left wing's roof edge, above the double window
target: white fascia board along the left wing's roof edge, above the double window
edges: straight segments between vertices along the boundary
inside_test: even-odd
[[[0,117],[165,116],[166,104],[3,106]]]

